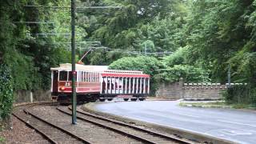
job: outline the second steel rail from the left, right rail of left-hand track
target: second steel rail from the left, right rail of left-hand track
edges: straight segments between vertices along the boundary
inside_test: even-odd
[[[84,142],[84,143],[87,143],[87,144],[92,143],[92,142],[90,142],[89,140],[87,140],[87,139],[85,139],[85,138],[81,138],[81,137],[79,137],[78,135],[75,135],[75,134],[71,133],[70,131],[63,129],[63,128],[60,127],[60,126],[56,126],[56,125],[54,125],[54,124],[52,124],[52,123],[50,123],[50,122],[47,122],[46,120],[44,120],[44,119],[42,119],[42,118],[39,118],[37,115],[30,113],[29,110],[26,110],[26,109],[25,109],[24,112],[25,112],[26,114],[30,114],[32,117],[37,118],[38,120],[40,120],[40,121],[42,121],[42,122],[45,122],[46,124],[48,124],[48,125],[50,125],[50,126],[53,126],[54,128],[56,128],[56,129],[58,129],[58,130],[62,130],[63,132],[65,132],[66,134],[69,134],[69,135],[70,135],[71,137],[73,137],[73,138],[77,138],[78,140],[80,140],[80,141],[82,141],[82,142]]]

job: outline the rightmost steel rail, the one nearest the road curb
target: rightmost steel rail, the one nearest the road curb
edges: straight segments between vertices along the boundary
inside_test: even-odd
[[[68,108],[70,109],[70,106],[69,106]],[[132,129],[134,129],[134,130],[140,130],[140,131],[146,132],[146,133],[148,133],[148,134],[154,134],[154,135],[157,135],[158,137],[170,139],[170,140],[172,140],[172,141],[182,142],[182,143],[186,143],[186,144],[192,143],[192,142],[189,142],[189,141],[180,139],[180,138],[171,137],[171,136],[166,135],[166,134],[160,134],[160,133],[154,132],[154,131],[152,131],[152,130],[146,130],[146,129],[142,129],[142,128],[138,127],[138,126],[129,125],[129,124],[126,124],[125,122],[118,122],[118,121],[113,120],[113,119],[110,119],[110,118],[103,118],[102,116],[98,116],[98,115],[95,115],[95,114],[86,113],[86,112],[83,112],[83,111],[80,111],[80,110],[77,110],[77,112],[78,112],[79,114],[84,114],[84,115],[87,115],[87,116],[90,116],[90,117],[93,117],[93,118],[98,118],[98,119],[101,119],[101,120],[106,121],[106,122],[112,122],[112,123],[117,124],[117,125],[120,125],[120,126],[126,126],[126,127],[129,127],[129,128],[132,128]]]

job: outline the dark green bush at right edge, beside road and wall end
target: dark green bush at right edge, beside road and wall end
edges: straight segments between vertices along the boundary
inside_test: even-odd
[[[256,105],[256,88],[250,85],[230,86],[222,93],[222,96],[229,104]]]

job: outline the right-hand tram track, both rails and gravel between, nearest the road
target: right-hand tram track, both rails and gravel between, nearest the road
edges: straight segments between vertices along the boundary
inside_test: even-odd
[[[62,113],[71,115],[70,106],[58,106],[57,109]],[[194,143],[182,138],[176,138],[171,135],[160,134],[151,130],[146,130],[138,126],[129,125],[124,122],[118,122],[113,119],[104,118],[95,114],[77,110],[77,118],[90,122],[94,125],[101,126],[104,129],[113,130],[119,134],[126,135],[127,137],[134,138],[143,143]]]

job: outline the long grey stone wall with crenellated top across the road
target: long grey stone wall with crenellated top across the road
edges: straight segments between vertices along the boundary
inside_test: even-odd
[[[231,83],[233,85],[246,85],[242,83]],[[159,86],[156,96],[168,99],[220,99],[222,91],[228,84],[220,83],[165,83]]]

